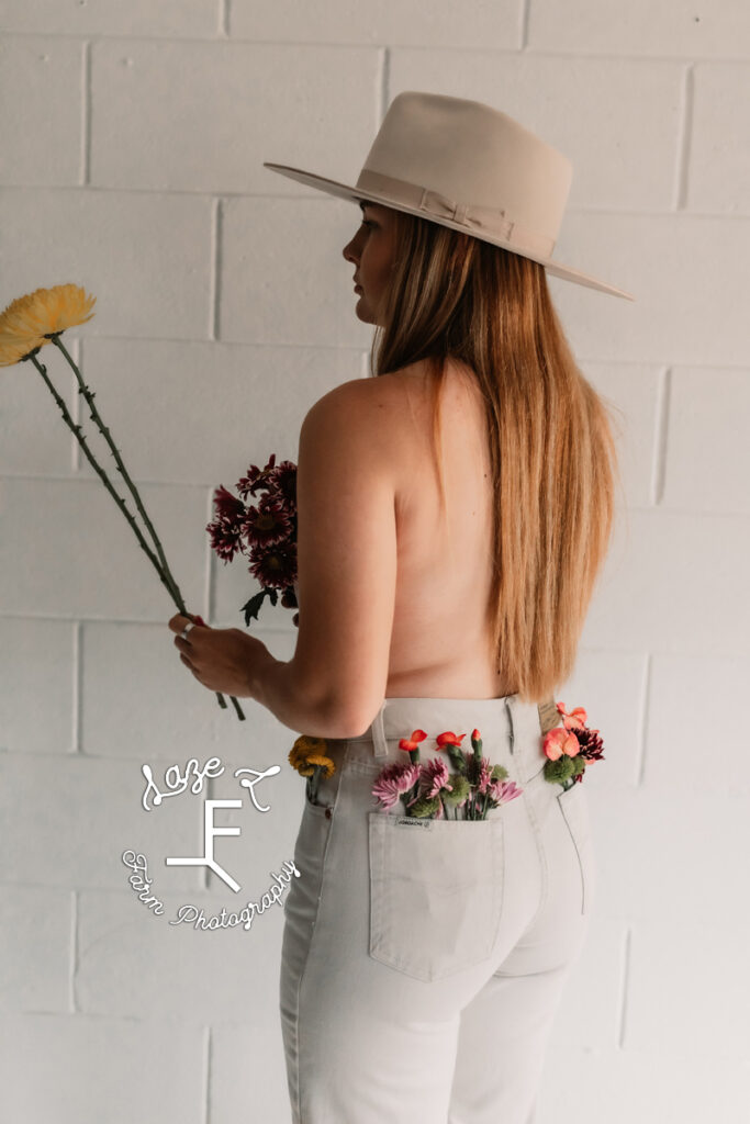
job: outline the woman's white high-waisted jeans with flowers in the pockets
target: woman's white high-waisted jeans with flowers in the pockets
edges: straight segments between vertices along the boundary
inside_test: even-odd
[[[371,789],[399,738],[471,732],[521,796],[484,821],[399,824]],[[544,1050],[588,930],[596,867],[585,779],[542,772],[539,710],[387,698],[328,741],[284,903],[280,1010],[293,1124],[531,1124]],[[450,764],[449,764],[450,770]],[[300,783],[304,783],[300,778]]]

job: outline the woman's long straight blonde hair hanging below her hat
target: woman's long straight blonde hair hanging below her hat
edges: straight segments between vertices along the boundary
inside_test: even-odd
[[[620,470],[609,411],[576,363],[544,266],[392,210],[397,257],[370,352],[378,377],[426,361],[433,451],[445,359],[486,406],[493,483],[490,627],[498,670],[524,701],[571,674],[613,527]],[[441,450],[440,453],[437,450]]]

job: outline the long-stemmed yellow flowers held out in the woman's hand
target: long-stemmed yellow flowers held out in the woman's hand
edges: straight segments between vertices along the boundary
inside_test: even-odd
[[[178,611],[183,616],[190,616],[184,601],[182,600],[182,595],[178,583],[174,580],[172,571],[166,562],[166,556],[159,540],[159,535],[156,534],[154,525],[148,518],[146,509],[143,506],[138,489],[133,483],[133,480],[130,479],[123,462],[120,452],[112,441],[111,433],[103,424],[101,415],[94,405],[94,393],[83,382],[81,372],[60,338],[66,328],[72,328],[78,324],[85,324],[91,319],[94,315],[91,309],[96,303],[96,297],[88,297],[84,289],[74,284],[58,284],[54,285],[52,289],[35,289],[34,292],[27,293],[25,297],[19,297],[17,300],[13,300],[2,311],[2,314],[0,314],[0,366],[10,366],[13,363],[25,362],[31,362],[34,364],[44,379],[49,393],[60,407],[65,425],[78,441],[79,445],[83,450],[83,453],[85,454],[87,460],[98,473],[105,488],[129,523],[142,550],[156,570],[162,584],[172,598]],[[146,541],[145,535],[130,511],[128,511],[127,500],[123,499],[123,497],[118,495],[107,472],[101,468],[91,452],[82,427],[73,422],[64,399],[57,393],[55,387],[49,380],[46,366],[37,359],[42,348],[49,343],[53,343],[55,347],[63,353],[67,363],[73,369],[79,384],[79,393],[83,396],[85,404],[89,407],[92,422],[97,425],[99,432],[107,442],[112,456],[115,457],[117,470],[133,496],[135,506],[145,525],[146,533],[151,538],[151,544]],[[199,620],[199,623],[202,622]],[[238,700],[234,697],[234,695],[229,697],[237,713],[237,717],[244,719],[245,715],[243,714]],[[216,691],[216,698],[219,706],[226,709],[226,700],[219,691]]]

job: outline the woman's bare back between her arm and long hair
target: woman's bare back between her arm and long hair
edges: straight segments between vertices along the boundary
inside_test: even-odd
[[[497,671],[489,634],[494,500],[480,392],[464,369],[449,362],[441,408],[443,514],[424,364],[378,382],[401,402],[395,411],[397,577],[386,696],[509,695],[517,685]]]

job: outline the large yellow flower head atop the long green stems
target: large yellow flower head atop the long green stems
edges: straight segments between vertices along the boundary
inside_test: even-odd
[[[35,289],[0,312],[0,366],[10,366],[49,343],[45,336],[85,324],[94,315],[96,297],[75,284]]]

